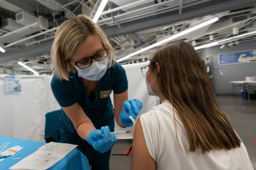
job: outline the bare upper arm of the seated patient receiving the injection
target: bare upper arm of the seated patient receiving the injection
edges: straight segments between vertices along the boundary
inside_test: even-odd
[[[155,160],[150,156],[140,119],[136,123],[133,136],[133,152],[131,155],[131,170],[155,170]]]

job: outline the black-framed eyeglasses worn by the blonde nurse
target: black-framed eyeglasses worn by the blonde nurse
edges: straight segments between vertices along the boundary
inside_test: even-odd
[[[84,69],[89,67],[90,65],[92,65],[93,62],[93,58],[97,61],[101,61],[104,60],[107,57],[107,48],[104,48],[103,50],[97,52],[97,54],[95,54],[92,57],[88,57],[79,61],[72,61],[74,64],[76,64],[76,66],[80,69]]]

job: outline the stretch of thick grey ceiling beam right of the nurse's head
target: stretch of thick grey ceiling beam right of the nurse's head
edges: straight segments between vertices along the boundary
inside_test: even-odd
[[[175,22],[191,20],[193,18],[203,17],[209,14],[216,14],[226,10],[244,8],[250,5],[255,5],[255,0],[213,0],[187,8],[185,8],[185,5],[183,5],[182,14],[179,14],[179,10],[176,10],[164,14],[156,14],[155,16],[148,18],[126,22],[121,24],[121,28],[118,26],[103,25],[102,29],[109,37],[115,37],[118,35],[134,33]]]

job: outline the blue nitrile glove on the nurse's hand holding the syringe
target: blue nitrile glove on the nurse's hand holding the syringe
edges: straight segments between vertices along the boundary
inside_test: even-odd
[[[117,137],[110,134],[108,126],[101,127],[101,130],[95,129],[87,136],[87,142],[100,153],[109,151],[117,142]]]

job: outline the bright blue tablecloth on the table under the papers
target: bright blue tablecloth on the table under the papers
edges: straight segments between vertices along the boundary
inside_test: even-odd
[[[15,153],[14,156],[9,156],[6,160],[0,162],[0,170],[8,170],[9,167],[15,165],[20,160],[12,160],[12,158],[21,158],[21,160],[28,155],[34,153],[37,148],[46,144],[43,142],[36,142],[30,140],[23,139],[15,139],[11,137],[0,136],[0,146],[4,143],[10,143],[4,150],[12,148],[13,146],[21,146],[22,150]],[[90,170],[90,166],[88,160],[80,150],[75,148],[72,150],[67,156],[65,156],[62,160],[56,163],[49,170]]]

